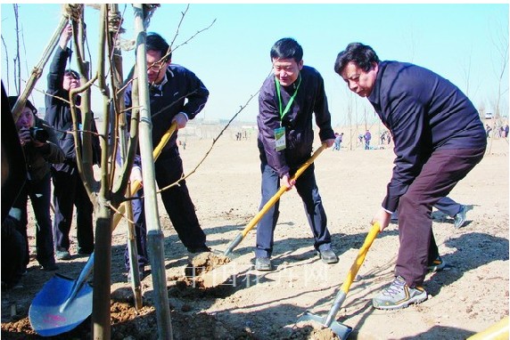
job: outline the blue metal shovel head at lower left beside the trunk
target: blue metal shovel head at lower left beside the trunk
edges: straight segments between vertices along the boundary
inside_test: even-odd
[[[92,287],[86,283],[61,312],[75,280],[55,274],[37,293],[29,309],[30,325],[40,336],[56,336],[70,331],[92,313]]]

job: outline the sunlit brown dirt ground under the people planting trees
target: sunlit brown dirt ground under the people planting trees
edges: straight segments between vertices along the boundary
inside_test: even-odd
[[[233,133],[234,135],[234,133]],[[188,138],[181,150],[190,172],[211,141]],[[317,145],[318,146],[318,145]],[[210,156],[187,179],[208,245],[220,252],[256,215],[260,175],[256,141],[220,139]],[[326,315],[341,282],[370,229],[391,176],[393,153],[384,150],[325,150],[317,158],[317,183],[325,204],[333,247],[340,262],[322,263],[295,190],[284,194],[276,225],[275,271],[253,268],[255,231],[234,249],[231,263],[218,266],[210,257],[186,252],[160,205],[171,325],[175,339],[334,339],[329,328],[297,322],[305,311]],[[392,279],[399,247],[398,225],[392,223],[374,241],[336,320],[354,328],[352,339],[465,339],[508,315],[508,142],[492,141],[487,155],[451,192],[468,206],[464,228],[435,211],[433,229],[447,270],[427,276],[429,299],[407,309],[375,310],[371,299]],[[30,221],[30,251],[35,252],[34,221]],[[86,257],[76,255],[71,231],[70,261],[59,271],[76,278]],[[126,225],[113,233],[111,263],[111,338],[155,339],[152,275],[142,280],[144,307],[136,311],[127,283],[123,254]],[[200,285],[195,267],[228,268],[229,278],[215,287]],[[220,257],[219,257],[220,258]],[[218,260],[218,259],[216,259]],[[221,262],[221,261],[220,261]],[[187,268],[187,269],[186,269]],[[32,256],[21,286],[2,291],[3,339],[37,339],[29,324],[29,306],[53,272],[42,271]],[[199,275],[200,276],[200,275]],[[91,337],[90,318],[54,339]]]

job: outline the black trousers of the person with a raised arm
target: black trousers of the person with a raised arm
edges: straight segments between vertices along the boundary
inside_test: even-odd
[[[55,221],[53,231],[57,250],[68,250],[70,247],[70,225],[72,213],[76,206],[76,235],[78,250],[85,253],[94,251],[94,229],[92,215],[94,206],[86,194],[78,171],[72,174],[53,169],[53,206]]]

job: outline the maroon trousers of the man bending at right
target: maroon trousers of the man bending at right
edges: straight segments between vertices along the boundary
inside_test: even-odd
[[[427,264],[438,255],[432,233],[432,206],[480,163],[485,148],[436,150],[399,199],[399,255],[395,271],[407,286],[424,283]]]

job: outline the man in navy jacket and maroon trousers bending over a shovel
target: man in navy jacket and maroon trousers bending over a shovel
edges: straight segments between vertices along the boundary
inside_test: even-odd
[[[396,278],[372,302],[385,310],[419,304],[427,299],[428,267],[442,262],[432,233],[432,206],[483,158],[483,125],[456,85],[429,69],[380,61],[368,45],[348,45],[334,71],[370,101],[395,143],[393,175],[372,223],[380,223],[382,231],[399,209]]]

